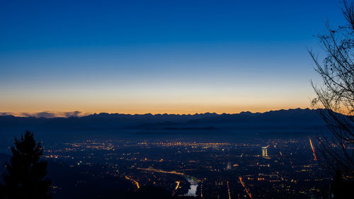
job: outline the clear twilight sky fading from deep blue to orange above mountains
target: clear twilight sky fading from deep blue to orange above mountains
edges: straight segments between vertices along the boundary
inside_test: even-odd
[[[341,2],[0,0],[0,113],[308,108]]]

